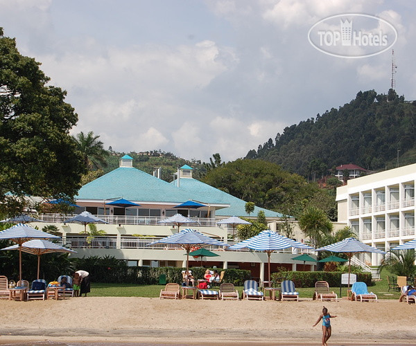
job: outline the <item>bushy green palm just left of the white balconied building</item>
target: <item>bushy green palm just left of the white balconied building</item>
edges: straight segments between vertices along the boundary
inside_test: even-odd
[[[318,248],[322,246],[322,240],[331,234],[333,226],[324,211],[309,207],[300,217],[299,227],[309,237],[311,244]]]

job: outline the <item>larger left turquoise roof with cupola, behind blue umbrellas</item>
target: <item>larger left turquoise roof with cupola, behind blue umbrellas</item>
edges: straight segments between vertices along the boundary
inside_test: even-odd
[[[195,199],[192,193],[158,179],[134,167],[119,167],[84,185],[76,199],[111,199],[129,201],[183,203]]]

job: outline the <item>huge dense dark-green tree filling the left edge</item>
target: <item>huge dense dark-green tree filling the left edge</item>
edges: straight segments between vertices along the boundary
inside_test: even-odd
[[[16,215],[27,195],[75,195],[84,167],[69,135],[78,116],[66,91],[47,86],[40,63],[21,55],[2,28],[0,57],[0,212]]]

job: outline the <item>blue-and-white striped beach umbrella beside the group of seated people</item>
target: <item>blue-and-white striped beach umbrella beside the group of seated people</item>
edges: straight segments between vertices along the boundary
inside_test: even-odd
[[[181,230],[174,235],[168,235],[162,239],[152,242],[147,246],[152,246],[155,244],[180,244],[185,251],[187,251],[187,273],[189,270],[189,253],[193,246],[207,246],[207,245],[217,245],[217,246],[227,246],[227,243],[219,242],[216,239],[203,235],[196,230],[191,228],[186,228]]]

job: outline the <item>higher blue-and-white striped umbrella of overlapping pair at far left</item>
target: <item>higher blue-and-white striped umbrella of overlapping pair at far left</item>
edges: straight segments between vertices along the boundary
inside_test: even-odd
[[[21,280],[21,244],[31,239],[59,238],[25,224],[17,224],[0,232],[0,239],[9,239],[19,246],[19,280]]]

